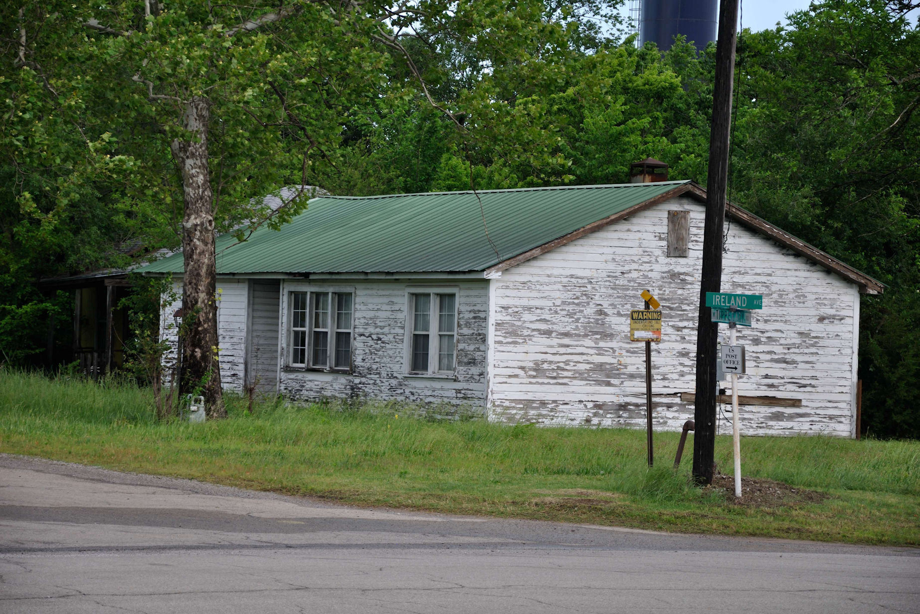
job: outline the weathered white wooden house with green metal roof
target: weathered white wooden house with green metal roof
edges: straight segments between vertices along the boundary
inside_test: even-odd
[[[678,429],[693,416],[705,200],[688,181],[312,199],[281,231],[218,239],[224,387],[644,426],[628,322],[649,289],[655,425]],[[741,208],[728,219],[722,289],[764,295],[739,334],[742,432],[852,437],[859,294],[883,286]],[[145,270],[180,290],[181,266]]]

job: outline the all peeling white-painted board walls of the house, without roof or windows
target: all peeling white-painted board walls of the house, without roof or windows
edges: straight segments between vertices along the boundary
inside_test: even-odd
[[[691,211],[687,257],[667,256],[667,211],[675,209]],[[639,292],[648,288],[663,311],[662,341],[652,350],[654,423],[680,429],[693,417],[680,393],[696,385],[703,223],[696,200],[672,199],[489,279],[220,278],[224,389],[241,392],[258,378],[260,390],[293,400],[466,404],[488,406],[496,420],[643,427],[644,346],[628,340],[628,313],[642,306]],[[856,285],[738,224],[728,236],[723,290],[763,294],[765,307],[754,313],[753,328],[739,332],[748,365],[740,393],[802,402],[742,405],[742,432],[852,437]],[[456,371],[446,378],[407,375],[408,289],[444,286],[458,289]],[[293,290],[354,292],[351,372],[284,366],[286,297]],[[172,344],[168,324],[180,306],[181,300],[168,306],[161,318]],[[164,362],[168,376],[175,352]]]

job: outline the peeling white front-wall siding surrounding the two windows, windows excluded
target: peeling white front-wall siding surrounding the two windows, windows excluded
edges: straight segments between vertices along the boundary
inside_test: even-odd
[[[399,400],[408,403],[485,406],[488,283],[444,281],[427,286],[457,288],[456,371],[452,378],[406,375],[408,291],[426,284],[405,281],[282,282],[282,358],[288,362],[287,297],[293,290],[354,291],[351,373],[282,368],[280,388],[295,400],[328,397]],[[411,289],[411,290],[409,290]]]

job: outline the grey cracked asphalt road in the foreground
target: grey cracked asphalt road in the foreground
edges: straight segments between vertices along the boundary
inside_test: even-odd
[[[332,506],[0,455],[0,613],[920,612],[920,551]]]

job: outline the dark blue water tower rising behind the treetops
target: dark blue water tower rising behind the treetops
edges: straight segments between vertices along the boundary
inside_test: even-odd
[[[710,40],[716,40],[718,25],[718,0],[642,0],[639,40],[650,40],[667,51],[674,37],[683,34],[702,51]]]

